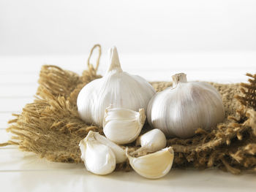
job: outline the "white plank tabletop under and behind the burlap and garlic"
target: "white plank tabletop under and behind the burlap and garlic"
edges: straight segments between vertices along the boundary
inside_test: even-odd
[[[12,112],[33,101],[42,64],[55,64],[81,73],[87,55],[0,56],[0,142],[10,137],[5,128]],[[172,53],[169,55],[120,55],[125,71],[147,80],[170,80],[176,72],[188,80],[224,83],[246,82],[246,72],[256,73],[256,52]],[[99,74],[107,68],[102,57]],[[256,191],[255,174],[233,175],[216,169],[171,170],[159,180],[147,180],[135,172],[97,176],[83,164],[62,164],[0,148],[1,191]]]

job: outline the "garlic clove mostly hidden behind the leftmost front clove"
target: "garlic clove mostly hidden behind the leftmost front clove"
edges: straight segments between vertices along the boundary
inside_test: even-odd
[[[120,164],[127,160],[125,151],[119,145],[116,145],[116,143],[110,141],[106,137],[103,137],[97,132],[94,132],[94,138],[97,139],[97,141],[102,143],[103,145],[106,145],[111,148],[111,150],[116,156],[116,164]]]

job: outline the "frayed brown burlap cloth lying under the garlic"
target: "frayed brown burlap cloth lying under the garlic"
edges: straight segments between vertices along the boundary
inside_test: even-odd
[[[247,84],[210,82],[222,95],[225,122],[211,132],[199,128],[190,139],[167,139],[167,145],[175,151],[174,167],[217,167],[233,174],[256,171],[256,74],[246,75]],[[32,151],[50,161],[80,163],[80,140],[90,130],[103,133],[102,128],[80,120],[76,100],[80,89],[99,77],[97,67],[94,69],[91,64],[82,76],[58,66],[42,66],[34,102],[14,114],[15,119],[9,121],[7,128],[12,139],[0,146],[18,145],[20,150]],[[162,91],[171,82],[151,85]],[[147,130],[146,124],[142,133]],[[126,146],[135,149],[135,143]],[[116,166],[116,170],[130,169],[128,162]]]

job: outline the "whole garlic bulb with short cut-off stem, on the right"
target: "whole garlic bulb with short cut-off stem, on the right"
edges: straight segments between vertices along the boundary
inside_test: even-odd
[[[186,74],[173,75],[173,87],[157,93],[148,103],[148,123],[167,137],[187,138],[197,128],[222,122],[225,110],[218,91],[206,82],[187,82]]]

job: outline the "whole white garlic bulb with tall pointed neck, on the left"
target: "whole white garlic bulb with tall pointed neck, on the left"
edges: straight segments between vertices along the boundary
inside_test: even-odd
[[[86,123],[102,126],[106,107],[146,110],[154,88],[142,77],[123,72],[116,47],[110,49],[110,66],[104,77],[85,85],[78,94],[78,113]]]

